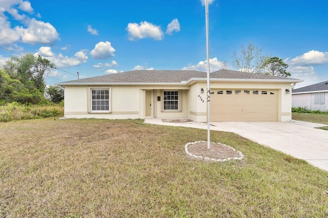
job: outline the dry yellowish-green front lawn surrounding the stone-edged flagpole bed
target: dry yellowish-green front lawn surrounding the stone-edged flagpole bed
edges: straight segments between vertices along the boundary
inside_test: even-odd
[[[245,155],[184,153],[206,130],[143,120],[0,124],[0,217],[327,217],[328,172],[234,133]]]

